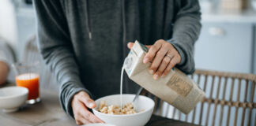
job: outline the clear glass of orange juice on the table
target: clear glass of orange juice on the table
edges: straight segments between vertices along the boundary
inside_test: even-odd
[[[28,88],[28,104],[40,102],[40,74],[39,62],[15,63],[13,64],[16,72],[16,85]]]

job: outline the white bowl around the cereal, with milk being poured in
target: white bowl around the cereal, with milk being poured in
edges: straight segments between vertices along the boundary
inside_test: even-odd
[[[122,105],[125,105],[128,102],[132,102],[135,95],[122,95]],[[96,105],[100,106],[100,101],[106,101],[107,106],[110,105],[120,105],[120,95],[109,95],[103,98],[96,100]],[[128,115],[111,115],[107,113],[100,113],[97,111],[97,107],[92,109],[96,117],[99,117],[101,120],[104,120],[107,124],[115,124],[116,126],[143,126],[145,125],[151,115],[155,102],[148,97],[140,95],[137,98],[137,101],[134,103],[134,108],[137,111],[144,109],[140,113],[128,114]]]

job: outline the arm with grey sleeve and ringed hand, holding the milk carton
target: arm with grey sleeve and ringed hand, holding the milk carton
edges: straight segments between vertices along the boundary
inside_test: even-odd
[[[171,5],[173,6],[173,5]],[[153,79],[166,76],[176,65],[186,74],[194,72],[194,43],[198,39],[201,13],[197,0],[177,0],[179,9],[175,17],[172,39],[157,40],[145,55],[145,64],[152,62],[149,73]],[[133,43],[128,43],[131,48]]]

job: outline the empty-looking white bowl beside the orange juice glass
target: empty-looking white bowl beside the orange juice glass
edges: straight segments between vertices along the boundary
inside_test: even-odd
[[[15,112],[28,99],[28,89],[25,87],[0,88],[0,109],[6,113]]]

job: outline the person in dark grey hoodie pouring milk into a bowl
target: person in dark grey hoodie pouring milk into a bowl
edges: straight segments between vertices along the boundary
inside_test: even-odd
[[[144,63],[158,80],[174,66],[194,72],[201,29],[198,0],[33,1],[39,49],[60,84],[60,102],[77,124],[103,122],[93,99],[119,94],[122,63],[135,39],[148,45]],[[128,43],[128,45],[127,45]],[[126,46],[127,45],[127,46]],[[124,92],[136,83],[125,79]]]

